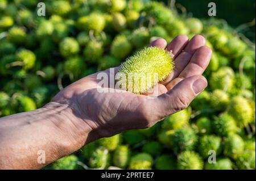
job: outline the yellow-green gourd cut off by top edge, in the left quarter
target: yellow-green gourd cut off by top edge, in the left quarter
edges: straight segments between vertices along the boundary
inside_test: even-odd
[[[68,1],[51,1],[49,9],[51,14],[65,16],[69,11],[71,11],[71,5]]]

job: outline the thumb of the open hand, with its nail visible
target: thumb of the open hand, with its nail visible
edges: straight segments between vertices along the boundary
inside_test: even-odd
[[[166,94],[158,96],[158,105],[164,115],[170,115],[189,106],[193,99],[207,87],[207,79],[202,75],[185,78]]]

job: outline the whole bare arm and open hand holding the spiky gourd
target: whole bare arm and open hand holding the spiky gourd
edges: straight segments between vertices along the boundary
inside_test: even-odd
[[[207,87],[202,74],[212,50],[201,35],[191,40],[180,35],[168,45],[158,39],[150,46],[172,50],[175,58],[175,69],[158,84],[156,98],[148,99],[149,93],[98,92],[98,73],[84,77],[42,108],[0,119],[0,169],[40,169],[98,138],[151,127],[187,108]],[[38,163],[39,150],[45,151],[46,163]]]

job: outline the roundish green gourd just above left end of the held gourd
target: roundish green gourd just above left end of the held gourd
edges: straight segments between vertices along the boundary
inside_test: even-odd
[[[110,53],[117,59],[123,60],[131,52],[132,45],[124,35],[116,36],[110,47]]]

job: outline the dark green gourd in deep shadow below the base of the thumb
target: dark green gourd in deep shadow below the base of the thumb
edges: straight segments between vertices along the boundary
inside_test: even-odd
[[[139,144],[144,139],[145,139],[144,135],[138,130],[130,130],[130,131],[123,132],[123,140],[128,145]]]

